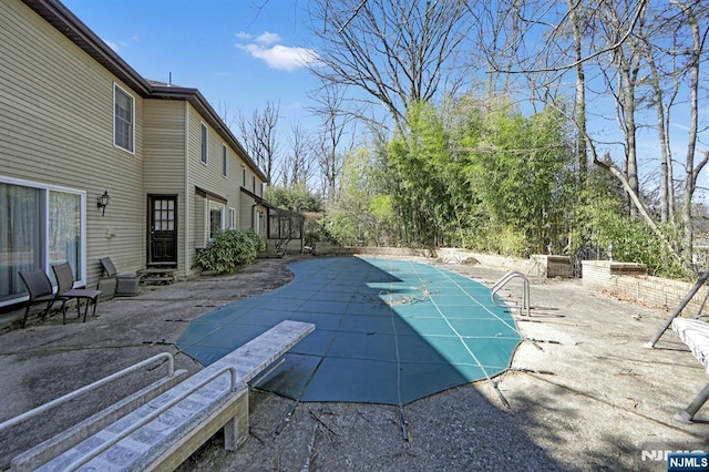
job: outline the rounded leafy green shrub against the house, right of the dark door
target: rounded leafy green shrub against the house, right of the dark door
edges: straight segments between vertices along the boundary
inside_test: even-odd
[[[195,261],[205,270],[228,274],[254,263],[256,249],[254,238],[247,232],[226,230],[217,234],[207,247],[197,254]]]

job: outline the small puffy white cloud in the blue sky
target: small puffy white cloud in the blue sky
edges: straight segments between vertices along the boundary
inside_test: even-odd
[[[248,33],[239,32],[237,38],[253,39]],[[308,48],[294,48],[282,44],[274,44],[280,41],[280,37],[276,33],[265,31],[248,44],[236,44],[237,48],[247,51],[253,58],[259,59],[268,64],[269,68],[281,71],[294,71],[317,61],[318,53]],[[268,44],[274,44],[266,48]]]

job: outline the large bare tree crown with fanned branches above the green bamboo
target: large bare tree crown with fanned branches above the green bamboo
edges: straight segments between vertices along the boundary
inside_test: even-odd
[[[326,83],[354,88],[360,104],[384,106],[397,129],[407,107],[431,101],[455,70],[467,39],[467,7],[459,0],[316,0],[310,3],[320,60],[311,71]]]

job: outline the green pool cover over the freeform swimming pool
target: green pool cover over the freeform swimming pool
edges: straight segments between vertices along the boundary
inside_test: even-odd
[[[259,388],[301,401],[405,404],[510,367],[521,341],[490,289],[425,264],[298,261],[295,279],[193,320],[177,346],[209,365],[278,322],[316,326]]]

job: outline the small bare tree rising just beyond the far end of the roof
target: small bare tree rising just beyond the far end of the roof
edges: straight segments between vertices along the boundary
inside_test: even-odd
[[[271,182],[278,166],[279,143],[276,127],[279,119],[278,103],[267,102],[263,111],[254,110],[249,117],[239,113],[239,131],[246,152],[266,173]]]

